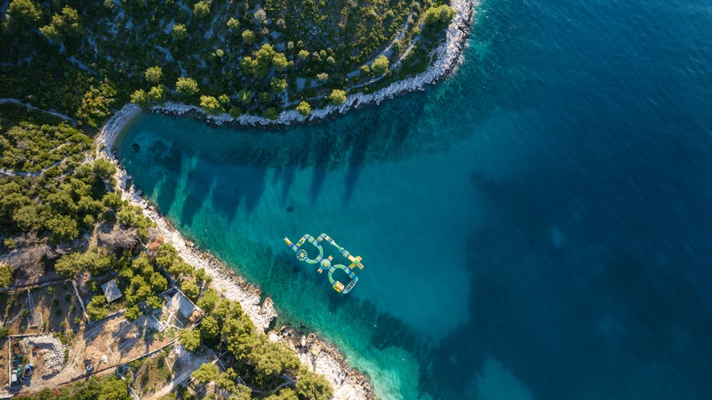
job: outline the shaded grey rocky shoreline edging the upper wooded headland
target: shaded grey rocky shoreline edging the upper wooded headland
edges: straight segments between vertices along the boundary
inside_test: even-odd
[[[348,95],[346,102],[339,106],[327,105],[324,108],[313,110],[311,114],[307,116],[301,115],[297,110],[285,110],[281,112],[276,120],[246,114],[240,115],[239,117],[232,117],[226,112],[221,115],[206,115],[201,107],[197,105],[185,105],[178,102],[166,102],[164,105],[154,105],[150,107],[150,111],[174,117],[191,115],[215,126],[287,127],[294,123],[325,120],[328,117],[345,114],[352,108],[358,109],[370,103],[378,105],[383,100],[392,99],[402,93],[425,90],[427,86],[434,85],[456,70],[470,31],[474,5],[475,0],[451,0],[450,6],[457,11],[457,14],[447,28],[445,43],[442,43],[437,49],[437,59],[424,73],[399,80],[388,85],[386,88],[377,90],[375,93],[356,93],[355,95]]]

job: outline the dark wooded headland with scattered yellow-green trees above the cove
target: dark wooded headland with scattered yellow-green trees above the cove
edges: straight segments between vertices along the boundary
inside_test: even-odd
[[[0,97],[92,127],[128,100],[308,115],[422,72],[453,16],[431,0],[11,0]]]

